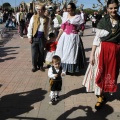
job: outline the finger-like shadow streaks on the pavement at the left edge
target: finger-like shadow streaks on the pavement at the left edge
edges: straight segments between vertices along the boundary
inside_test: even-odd
[[[13,54],[18,54],[16,51],[16,49],[19,47],[1,47],[0,48],[0,57],[6,57],[7,58],[3,58],[0,59],[0,62],[4,62],[5,60],[11,60],[11,59],[15,59],[16,57],[9,57],[9,55],[13,55]]]

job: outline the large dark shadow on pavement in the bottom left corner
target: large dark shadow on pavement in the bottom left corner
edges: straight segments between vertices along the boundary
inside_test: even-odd
[[[42,89],[35,89],[31,91],[9,94],[0,99],[0,120],[8,118],[20,118],[19,115],[25,114],[34,108],[32,104],[40,102],[45,98],[47,91]],[[39,105],[38,105],[39,107]],[[23,116],[22,116],[23,117]],[[25,117],[24,119],[27,119]],[[45,120],[38,118],[28,118],[28,120]]]

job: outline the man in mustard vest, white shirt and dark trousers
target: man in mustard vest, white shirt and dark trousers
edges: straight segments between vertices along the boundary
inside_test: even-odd
[[[45,5],[38,3],[35,8],[37,14],[31,17],[27,34],[32,50],[32,72],[37,71],[37,67],[44,71],[44,47],[49,27],[49,18],[44,15]]]

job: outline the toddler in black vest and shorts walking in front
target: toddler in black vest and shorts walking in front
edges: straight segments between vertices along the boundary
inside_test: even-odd
[[[60,66],[61,59],[59,56],[55,55],[52,57],[52,66],[48,69],[48,77],[50,78],[50,102],[53,104],[55,101],[59,100],[59,92],[62,87],[62,76],[65,75],[65,72],[62,71]]]

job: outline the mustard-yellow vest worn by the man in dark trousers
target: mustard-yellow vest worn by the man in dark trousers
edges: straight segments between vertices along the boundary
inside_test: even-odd
[[[33,23],[33,32],[32,32],[32,35],[33,37],[35,36],[37,30],[38,30],[38,27],[40,25],[40,16],[39,15],[34,15],[34,23]],[[48,22],[49,22],[49,18],[44,16],[44,36],[47,37],[48,35]]]

